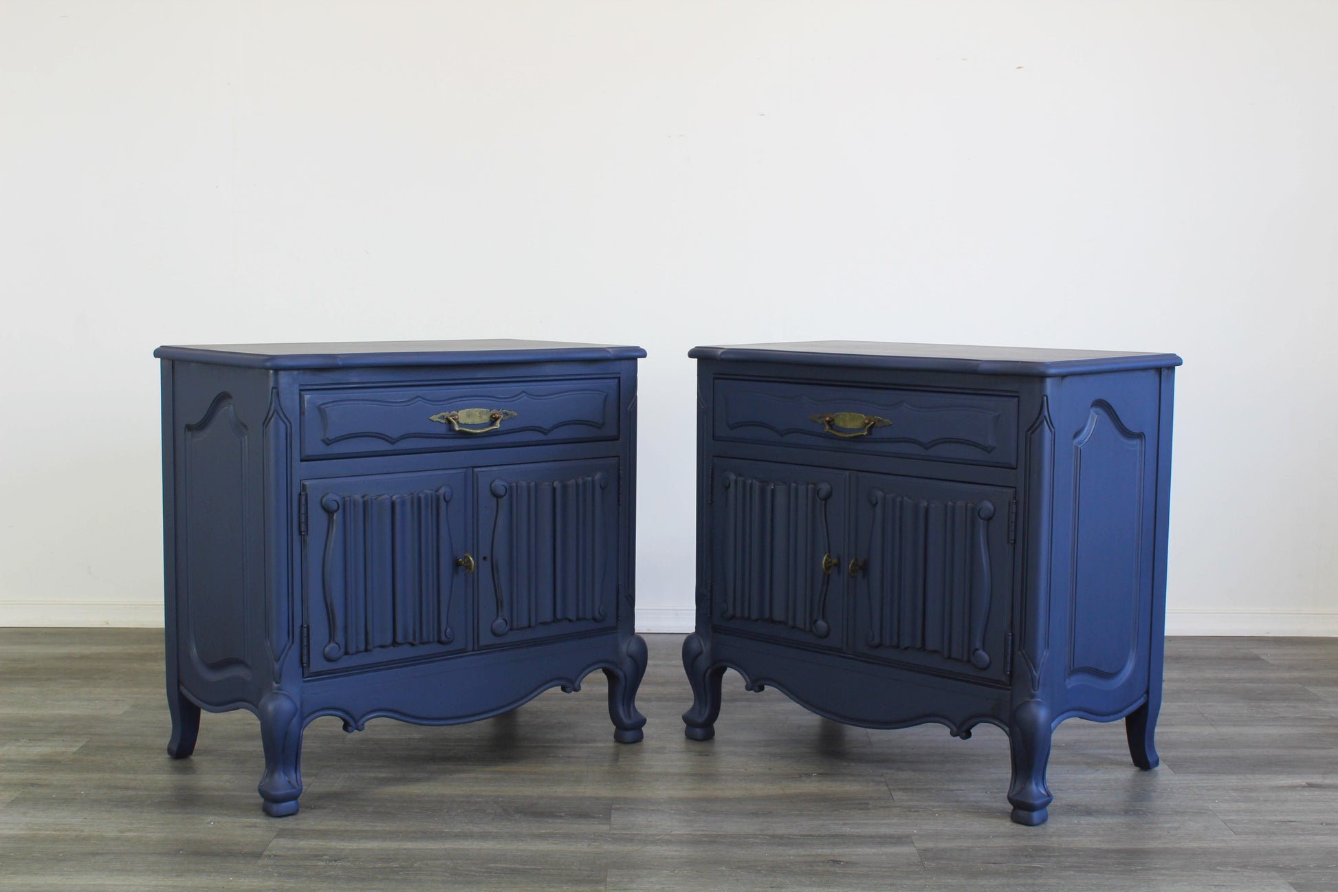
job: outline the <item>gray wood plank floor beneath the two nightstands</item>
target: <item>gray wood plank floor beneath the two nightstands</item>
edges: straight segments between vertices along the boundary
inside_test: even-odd
[[[1338,892],[1338,639],[1169,640],[1161,767],[1066,722],[1022,828],[997,729],[846,727],[729,674],[694,743],[680,638],[648,638],[642,743],[599,674],[459,727],[318,719],[273,820],[250,714],[163,753],[159,634],[0,629],[0,888]]]

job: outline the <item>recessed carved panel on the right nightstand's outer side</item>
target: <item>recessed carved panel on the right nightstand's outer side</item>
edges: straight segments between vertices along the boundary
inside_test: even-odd
[[[1069,676],[1098,686],[1117,686],[1139,654],[1145,454],[1145,437],[1100,399],[1073,438]]]

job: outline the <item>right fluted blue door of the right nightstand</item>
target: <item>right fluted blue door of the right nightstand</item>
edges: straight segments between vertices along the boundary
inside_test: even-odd
[[[1013,589],[1013,490],[860,474],[855,651],[1004,679]]]

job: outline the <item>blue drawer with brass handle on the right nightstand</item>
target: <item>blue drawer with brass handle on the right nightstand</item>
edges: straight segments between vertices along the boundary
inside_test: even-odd
[[[717,441],[1017,466],[1017,398],[717,378]]]

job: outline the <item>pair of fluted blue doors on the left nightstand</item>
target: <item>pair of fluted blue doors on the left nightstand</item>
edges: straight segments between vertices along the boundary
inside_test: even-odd
[[[308,671],[617,624],[618,459],[302,484]]]

